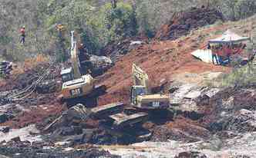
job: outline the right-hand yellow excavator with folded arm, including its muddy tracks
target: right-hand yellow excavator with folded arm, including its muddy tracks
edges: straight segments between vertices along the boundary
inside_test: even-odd
[[[124,127],[147,121],[148,113],[151,111],[168,111],[170,97],[163,94],[150,94],[148,75],[136,64],[133,64],[133,82],[130,105],[113,103],[94,107],[91,109],[91,115],[99,120],[108,117],[113,120],[115,127]]]

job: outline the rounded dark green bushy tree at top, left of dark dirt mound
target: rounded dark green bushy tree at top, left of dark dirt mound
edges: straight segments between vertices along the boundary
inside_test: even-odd
[[[137,33],[133,7],[124,2],[117,3],[116,8],[112,8],[110,3],[106,3],[100,7],[99,12],[89,19],[88,25],[102,46],[110,41],[133,37]]]

